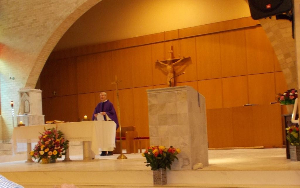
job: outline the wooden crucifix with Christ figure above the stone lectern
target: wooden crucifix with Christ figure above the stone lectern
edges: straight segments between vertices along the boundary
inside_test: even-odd
[[[167,73],[168,73],[167,74],[167,84],[169,87],[173,87],[174,86],[174,78],[185,73],[185,72],[183,72],[181,74],[174,76],[174,65],[178,64],[183,59],[189,58],[189,57],[183,56],[182,58],[173,58],[173,46],[170,47],[170,50],[168,51],[168,53],[170,53],[170,58],[168,58],[166,60],[162,60],[162,61],[157,60],[156,62],[160,63],[161,65],[166,66]]]

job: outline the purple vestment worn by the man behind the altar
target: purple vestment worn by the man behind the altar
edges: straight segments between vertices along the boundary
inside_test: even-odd
[[[106,112],[108,117],[110,117],[110,119],[112,119],[117,124],[117,129],[118,129],[118,127],[119,127],[118,117],[117,117],[115,108],[113,107],[113,104],[109,100],[107,100],[105,102],[99,102],[99,104],[96,106],[96,108],[94,110],[92,120],[95,120],[94,115],[98,114],[100,112]]]

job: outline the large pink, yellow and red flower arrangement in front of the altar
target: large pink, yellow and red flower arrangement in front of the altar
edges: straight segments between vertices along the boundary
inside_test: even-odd
[[[45,132],[38,137],[38,144],[30,152],[31,157],[38,159],[38,162],[42,159],[61,158],[62,155],[66,154],[69,143],[68,140],[62,137],[63,135],[60,130],[57,130],[57,126],[56,128],[45,129]]]

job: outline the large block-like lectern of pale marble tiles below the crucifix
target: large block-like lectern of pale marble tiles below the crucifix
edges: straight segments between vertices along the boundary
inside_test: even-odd
[[[172,170],[208,166],[205,98],[190,86],[148,89],[151,145],[180,148]]]

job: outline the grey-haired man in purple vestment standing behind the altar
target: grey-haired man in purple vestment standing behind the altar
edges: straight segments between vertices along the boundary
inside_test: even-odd
[[[113,104],[107,99],[106,92],[100,93],[100,100],[101,102],[99,102],[99,104],[96,106],[94,110],[92,120],[114,121],[117,124],[117,129],[118,129],[119,122],[118,122],[116,110],[113,107]],[[102,152],[100,156],[113,155],[113,150],[114,150],[113,147],[102,148]]]

